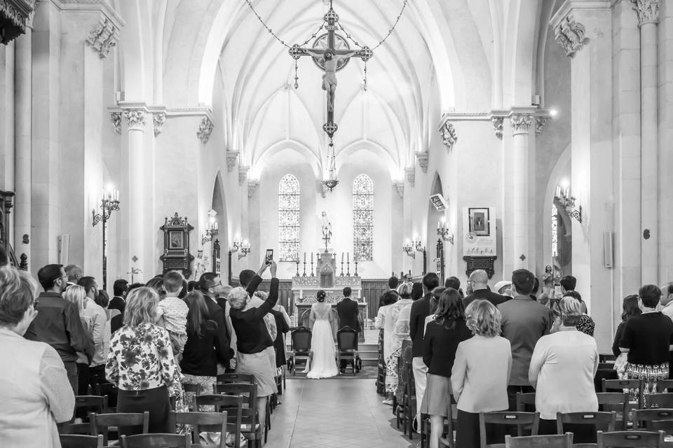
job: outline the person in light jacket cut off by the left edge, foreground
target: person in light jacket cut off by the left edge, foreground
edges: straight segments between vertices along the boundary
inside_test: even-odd
[[[0,442],[7,448],[60,448],[56,423],[69,421],[75,405],[57,351],[23,338],[38,314],[35,295],[28,274],[0,267]]]

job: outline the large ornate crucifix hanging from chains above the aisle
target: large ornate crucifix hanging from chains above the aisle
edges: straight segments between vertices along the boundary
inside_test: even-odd
[[[374,53],[367,46],[360,50],[351,50],[348,41],[335,31],[337,31],[337,22],[339,15],[332,9],[332,0],[329,1],[329,11],[325,14],[327,25],[327,34],[318,36],[313,41],[313,48],[304,48],[295,44],[290,48],[290,55],[297,61],[302,56],[311,56],[313,62],[325,71],[322,75],[322,90],[327,94],[327,123],[322,125],[329,138],[334,137],[337,132],[337,123],[334,123],[334,96],[337,92],[337,71],[348,64],[351,57],[359,57],[365,63],[372,58]],[[365,66],[366,70],[366,66]],[[295,84],[295,87],[297,85]]]

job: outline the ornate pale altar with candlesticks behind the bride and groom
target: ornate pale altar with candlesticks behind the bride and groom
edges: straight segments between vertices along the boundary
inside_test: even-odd
[[[311,255],[311,274],[299,275],[299,263],[297,263],[297,275],[292,277],[292,292],[294,293],[294,315],[297,316],[297,325],[308,327],[308,317],[311,311],[311,305],[318,300],[315,294],[319,290],[325,291],[325,302],[332,305],[334,320],[337,318],[337,303],[343,299],[343,290],[346,286],[350,287],[352,292],[351,299],[358,302],[360,311],[360,328],[364,329],[364,323],[367,319],[367,304],[362,301],[362,279],[358,276],[357,262],[355,262],[355,275],[351,275],[350,263],[344,274],[344,262],[341,262],[341,274],[337,275],[337,254],[325,251],[318,253],[318,262],[315,269],[317,275],[313,274],[313,255]],[[306,262],[304,262],[306,266]],[[334,328],[336,332],[337,327]],[[359,338],[361,342],[365,341],[365,332],[361,331]]]

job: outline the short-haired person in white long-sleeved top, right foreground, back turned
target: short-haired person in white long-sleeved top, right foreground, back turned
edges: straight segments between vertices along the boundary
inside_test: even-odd
[[[559,311],[559,330],[538,339],[528,371],[530,384],[536,389],[535,408],[540,412],[541,434],[556,434],[557,412],[598,410],[594,388],[599,363],[596,339],[576,328],[583,315],[578,300],[563,297]],[[586,425],[571,431],[576,432],[578,442],[592,442],[580,440],[587,436],[591,439],[583,428]]]

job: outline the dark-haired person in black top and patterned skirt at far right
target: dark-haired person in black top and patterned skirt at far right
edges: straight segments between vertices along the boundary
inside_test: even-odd
[[[642,379],[643,393],[655,393],[658,379],[669,376],[673,322],[656,307],[661,290],[645,285],[638,291],[642,314],[632,316],[624,325],[619,349],[627,355],[626,377]]]

